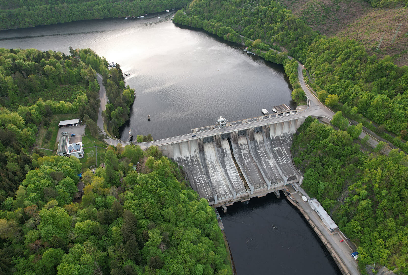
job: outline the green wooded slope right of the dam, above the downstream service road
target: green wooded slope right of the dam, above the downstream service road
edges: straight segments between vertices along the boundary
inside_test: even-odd
[[[304,172],[302,187],[331,214],[356,245],[358,263],[387,266],[407,274],[408,156],[384,144],[367,155],[356,139],[361,125],[343,123],[338,112],[335,130],[311,117],[297,130],[291,148],[293,162]],[[348,126],[348,127],[347,127]]]

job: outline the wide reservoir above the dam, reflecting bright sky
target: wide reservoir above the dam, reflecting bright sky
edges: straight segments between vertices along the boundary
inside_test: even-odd
[[[173,24],[170,13],[143,19],[85,20],[0,31],[0,47],[92,48],[119,63],[126,85],[135,89],[126,140],[152,134],[163,139],[213,125],[222,116],[235,121],[262,115],[282,103],[295,108],[283,66],[245,53],[216,35]],[[158,18],[160,17],[160,18]],[[147,115],[151,120],[147,120]]]

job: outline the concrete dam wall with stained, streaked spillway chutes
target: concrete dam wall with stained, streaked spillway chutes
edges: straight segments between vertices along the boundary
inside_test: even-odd
[[[265,196],[301,178],[290,156],[293,133],[304,118],[221,133],[159,146],[183,167],[191,187],[209,205],[223,207]],[[230,128],[230,132],[226,129]],[[216,129],[214,129],[216,130]]]

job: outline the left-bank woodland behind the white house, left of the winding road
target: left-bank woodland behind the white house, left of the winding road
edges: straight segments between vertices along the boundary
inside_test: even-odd
[[[97,119],[99,85],[92,66],[106,69],[106,61],[90,49],[70,52],[84,62],[54,51],[0,48],[1,202],[33,168],[29,155],[36,134],[50,126],[53,114],[79,114],[91,118],[89,125]]]

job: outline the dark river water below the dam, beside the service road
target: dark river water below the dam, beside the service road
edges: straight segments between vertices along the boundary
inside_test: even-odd
[[[341,274],[315,231],[282,194],[218,211],[237,274]]]

